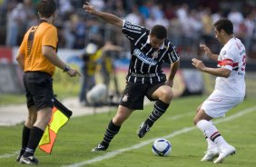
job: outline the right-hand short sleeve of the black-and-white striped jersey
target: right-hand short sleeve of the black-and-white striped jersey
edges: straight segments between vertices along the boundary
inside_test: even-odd
[[[175,45],[169,42],[167,56],[164,56],[163,62],[167,64],[173,64],[179,60],[180,60],[180,55],[177,53]]]

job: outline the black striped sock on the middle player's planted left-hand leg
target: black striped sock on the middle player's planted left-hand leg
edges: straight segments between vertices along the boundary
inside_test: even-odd
[[[112,141],[115,134],[119,132],[120,128],[121,126],[117,126],[113,124],[113,121],[111,120],[110,123],[108,124],[108,127],[103,137],[103,142],[101,142],[101,145],[108,147],[109,143]]]

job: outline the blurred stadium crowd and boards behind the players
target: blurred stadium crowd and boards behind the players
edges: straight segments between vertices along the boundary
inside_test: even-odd
[[[35,4],[38,0],[0,0],[0,96],[23,93],[22,72],[15,63],[15,53],[28,27],[37,21]],[[117,72],[118,90],[123,90],[124,75],[129,63],[129,43],[113,25],[87,15],[82,0],[57,0],[58,11],[54,25],[59,34],[59,56],[78,68],[79,54],[91,41],[103,45],[111,41],[123,47],[121,54],[109,54]],[[234,34],[247,48],[247,96],[255,96],[256,79],[256,2],[229,0],[91,0],[98,10],[113,13],[123,19],[151,28],[165,25],[168,36],[181,55],[181,70],[174,87],[176,96],[209,94],[215,77],[201,74],[191,64],[192,57],[215,66],[200,52],[200,43],[208,44],[213,53],[222,47],[214,38],[212,24],[220,17],[228,17],[234,24]],[[57,73],[58,74],[58,73]],[[101,78],[101,77],[98,77]],[[56,76],[55,82],[66,82]],[[99,82],[100,79],[99,79]],[[79,82],[73,83],[79,87]],[[113,85],[115,87],[115,85]],[[71,88],[72,89],[72,88]],[[79,89],[79,88],[78,88]],[[75,92],[77,93],[77,92]],[[74,95],[75,95],[74,93]],[[78,96],[78,93],[76,94]]]

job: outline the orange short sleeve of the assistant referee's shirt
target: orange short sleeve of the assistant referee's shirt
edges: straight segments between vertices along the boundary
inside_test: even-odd
[[[51,26],[47,28],[44,33],[42,45],[52,46],[56,49],[57,43],[58,43],[57,29],[54,26]]]

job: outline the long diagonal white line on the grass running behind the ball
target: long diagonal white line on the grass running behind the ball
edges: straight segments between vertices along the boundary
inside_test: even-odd
[[[235,114],[232,114],[231,116],[222,118],[222,119],[220,119],[220,120],[218,120],[218,121],[216,121],[214,123],[217,124],[217,123],[229,122],[229,121],[234,120],[236,118],[239,118],[239,117],[241,117],[241,116],[243,116],[245,114],[252,113],[252,112],[255,112],[255,111],[256,111],[256,106],[253,106],[251,108],[242,110],[239,113],[235,113]],[[183,128],[183,129],[181,129],[179,131],[175,131],[173,133],[170,133],[170,134],[168,134],[166,136],[162,136],[162,137],[159,137],[159,138],[168,139],[168,138],[172,138],[172,137],[177,136],[177,135],[182,134],[182,133],[191,132],[192,130],[195,130],[195,129],[196,129],[195,126],[186,127],[186,128]],[[120,153],[123,153],[123,152],[129,152],[131,150],[141,148],[144,145],[152,143],[154,140],[155,139],[150,139],[150,140],[147,140],[147,141],[135,144],[132,147],[127,147],[127,148],[119,149],[119,150],[116,150],[116,151],[113,151],[113,152],[107,152],[104,155],[95,157],[94,159],[87,160],[87,161],[84,161],[84,162],[76,162],[76,163],[73,163],[73,164],[70,164],[70,165],[65,165],[64,167],[80,167],[80,166],[84,166],[86,164],[91,164],[91,163],[94,163],[94,162],[101,162],[103,160],[110,159],[110,158],[112,158],[113,156],[115,156],[117,154],[120,154]]]

